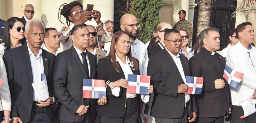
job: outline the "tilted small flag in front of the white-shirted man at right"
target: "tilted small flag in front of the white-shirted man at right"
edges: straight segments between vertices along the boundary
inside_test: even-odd
[[[234,88],[237,88],[239,85],[244,73],[237,72],[230,68],[227,64],[225,66],[223,78],[225,78],[228,84]]]

